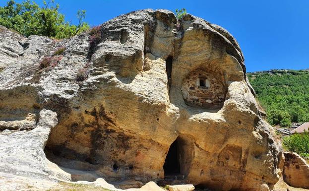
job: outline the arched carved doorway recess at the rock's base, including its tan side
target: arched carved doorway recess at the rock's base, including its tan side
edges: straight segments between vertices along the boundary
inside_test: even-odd
[[[180,135],[171,144],[163,165],[165,179],[184,179],[189,174],[194,157],[193,139]]]

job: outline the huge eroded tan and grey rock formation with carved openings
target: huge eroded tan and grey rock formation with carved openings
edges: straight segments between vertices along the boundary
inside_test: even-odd
[[[283,167],[281,147],[260,116],[239,45],[225,29],[146,9],[102,24],[95,48],[89,39],[88,33],[26,39],[21,56],[0,73],[0,120],[21,120],[41,108],[57,112],[45,149],[50,159],[109,181],[177,174],[216,190],[273,188]],[[39,68],[61,46],[57,66]],[[88,76],[82,82],[76,80],[81,69]],[[188,103],[184,90],[192,88],[198,100]],[[176,165],[164,168],[167,160]]]

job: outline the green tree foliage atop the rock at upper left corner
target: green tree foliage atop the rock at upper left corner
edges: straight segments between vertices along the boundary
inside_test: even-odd
[[[70,24],[64,20],[64,15],[59,13],[59,4],[54,0],[43,1],[44,6],[24,0],[16,3],[9,0],[6,6],[0,7],[0,25],[13,29],[22,35],[44,35],[57,39],[74,36],[89,29],[84,22],[85,10],[77,11],[78,24]]]

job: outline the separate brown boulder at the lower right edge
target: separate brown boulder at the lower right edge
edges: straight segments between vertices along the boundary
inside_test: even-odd
[[[283,180],[292,187],[309,189],[309,165],[294,152],[284,152]]]

